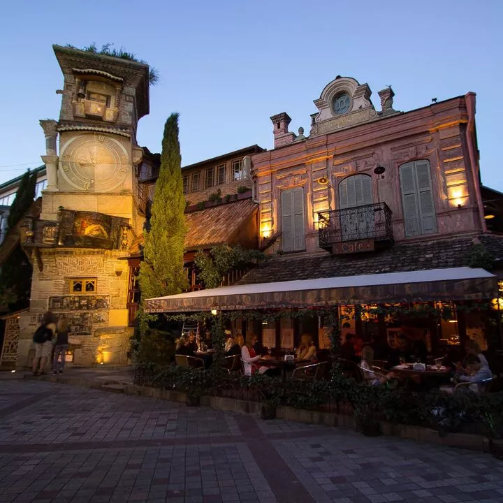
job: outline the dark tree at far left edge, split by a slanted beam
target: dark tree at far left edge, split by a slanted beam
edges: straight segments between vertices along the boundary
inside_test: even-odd
[[[13,204],[10,206],[7,219],[7,232],[27,214],[35,198],[36,173],[24,173],[17,189]],[[17,311],[29,306],[31,292],[31,275],[33,268],[24,254],[20,244],[17,244],[7,260],[1,265],[0,271],[0,304],[3,310]],[[8,305],[8,309],[6,309]]]

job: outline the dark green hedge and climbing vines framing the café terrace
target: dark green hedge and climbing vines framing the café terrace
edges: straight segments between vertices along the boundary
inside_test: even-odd
[[[391,305],[378,307],[379,317],[393,319],[407,316],[417,320],[424,316],[449,321],[453,317],[451,305]],[[458,314],[485,313],[490,304],[471,302],[456,307]],[[263,404],[265,416],[271,410],[286,406],[310,411],[335,412],[353,415],[356,426],[367,435],[375,435],[379,421],[396,425],[417,425],[434,428],[440,433],[476,432],[492,439],[503,438],[503,394],[460,393],[447,395],[438,388],[428,392],[387,386],[365,386],[348,377],[341,365],[340,341],[344,323],[361,319],[363,314],[375,311],[372,306],[354,306],[353,309],[251,309],[249,311],[208,312],[194,314],[163,314],[170,321],[197,321],[200,326],[212,327],[215,349],[214,363],[209,370],[191,370],[173,364],[136,363],[135,384],[187,393],[187,401],[197,404],[203,396],[235,398]],[[328,360],[330,373],[323,380],[282,380],[277,377],[253,375],[243,377],[229,374],[223,365],[223,345],[226,327],[249,323],[251,327],[281,323],[282,319],[305,320],[324,328],[330,347]],[[490,319],[490,316],[489,318]],[[240,324],[238,323],[238,324]],[[245,325],[247,324],[245,323]],[[264,324],[265,323],[265,324]]]

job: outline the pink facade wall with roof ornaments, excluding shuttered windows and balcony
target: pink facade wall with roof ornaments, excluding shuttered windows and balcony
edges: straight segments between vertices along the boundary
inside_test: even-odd
[[[335,114],[330,103],[341,92],[353,92],[349,99],[356,110]],[[377,112],[366,85],[350,78],[334,80],[314,102],[319,112],[312,116],[309,138],[302,131],[299,136],[288,131],[288,115],[271,117],[275,149],[251,159],[261,240],[273,238],[271,251],[284,251],[283,191],[302,188],[304,249],[321,251],[318,213],[342,207],[340,184],[353,175],[370,178],[371,196],[366,203],[386,203],[390,208],[395,242],[485,231],[474,137],[475,95],[468,93],[402,113],[393,110],[391,89],[379,94],[382,110]],[[422,160],[429,164],[435,228],[407,235],[400,167]],[[384,171],[374,173],[378,167]]]

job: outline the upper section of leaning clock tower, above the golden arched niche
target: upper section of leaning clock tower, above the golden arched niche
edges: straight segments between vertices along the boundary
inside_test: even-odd
[[[146,64],[54,45],[64,75],[59,121],[41,121],[48,187],[41,218],[59,208],[130,219],[140,231],[136,169],[138,120],[149,112]],[[59,135],[59,155],[56,152]]]

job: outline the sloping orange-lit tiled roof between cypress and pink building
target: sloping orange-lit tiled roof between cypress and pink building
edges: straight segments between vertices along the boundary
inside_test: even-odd
[[[258,206],[251,199],[242,199],[205,210],[187,213],[185,248],[210,247],[232,242]]]

